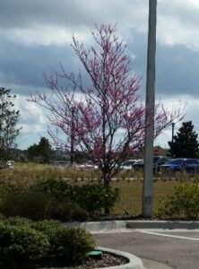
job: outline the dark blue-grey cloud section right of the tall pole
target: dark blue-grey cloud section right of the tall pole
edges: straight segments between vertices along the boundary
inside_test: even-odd
[[[199,53],[185,46],[157,48],[157,90],[160,94],[198,96]]]

